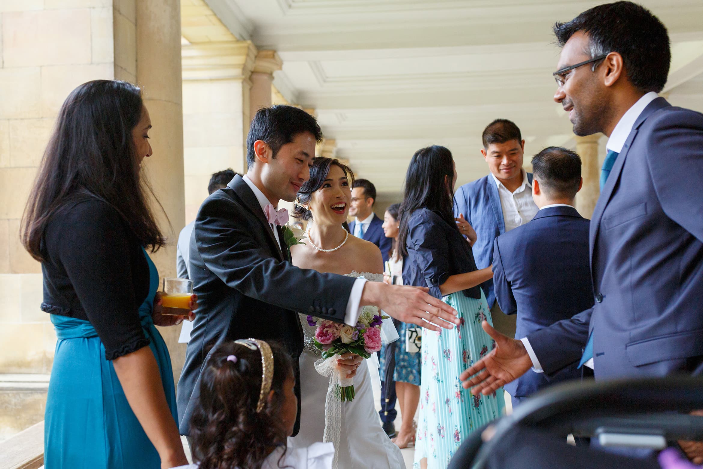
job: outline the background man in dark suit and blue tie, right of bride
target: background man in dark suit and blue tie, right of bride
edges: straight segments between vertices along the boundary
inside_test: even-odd
[[[381,250],[383,262],[388,256],[393,245],[391,238],[386,238],[381,228],[383,220],[373,213],[376,203],[376,188],[366,179],[356,179],[352,187],[352,203],[349,205],[349,215],[354,221],[349,224],[349,233],[356,238],[365,239],[378,246]]]

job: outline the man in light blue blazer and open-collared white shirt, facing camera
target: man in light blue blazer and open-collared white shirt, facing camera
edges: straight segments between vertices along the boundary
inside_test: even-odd
[[[454,216],[473,243],[479,269],[493,262],[493,243],[498,236],[526,224],[537,213],[532,200],[532,174],[522,169],[525,141],[517,125],[507,119],[496,119],[484,129],[482,141],[481,154],[490,174],[458,188],[454,205]],[[504,334],[513,335],[515,318],[505,316],[496,304],[493,281],[481,286],[494,326]]]

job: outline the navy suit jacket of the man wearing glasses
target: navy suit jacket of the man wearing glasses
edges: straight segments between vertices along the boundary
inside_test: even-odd
[[[703,114],[655,99],[595,205],[595,305],[527,335],[547,373],[579,360],[591,331],[597,379],[696,370],[703,361],[701,181]]]

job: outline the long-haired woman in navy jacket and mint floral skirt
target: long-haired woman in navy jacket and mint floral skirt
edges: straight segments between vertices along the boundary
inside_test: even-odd
[[[493,347],[481,321],[492,323],[478,286],[493,276],[478,270],[453,215],[456,165],[443,146],[415,152],[400,207],[398,245],[406,285],[427,287],[459,313],[460,325],[435,333],[423,330],[420,416],[415,467],[446,468],[467,435],[501,415],[503,390],[474,397],[461,387],[460,373]]]

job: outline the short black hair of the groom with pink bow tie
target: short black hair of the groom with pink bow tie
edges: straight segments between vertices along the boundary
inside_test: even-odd
[[[313,134],[318,143],[322,141],[322,131],[315,117],[304,110],[283,104],[259,109],[249,126],[247,135],[247,166],[254,165],[255,141],[266,142],[273,151],[273,158],[276,158],[280,147],[292,142],[303,132]]]

